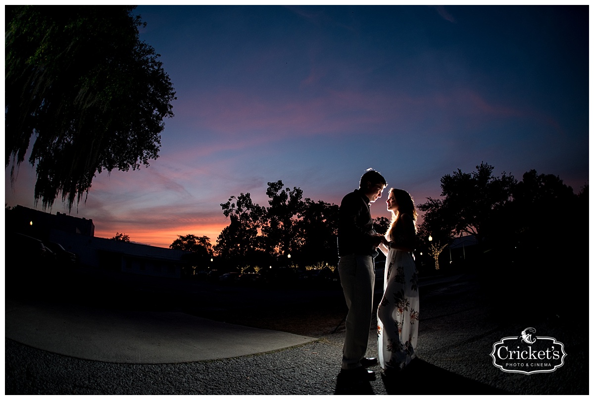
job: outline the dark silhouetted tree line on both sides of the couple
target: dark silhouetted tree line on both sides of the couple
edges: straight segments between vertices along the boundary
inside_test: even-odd
[[[424,216],[417,253],[430,245],[446,248],[461,234],[474,235],[473,256],[441,263],[443,273],[478,273],[494,298],[517,298],[520,291],[522,307],[548,304],[551,312],[561,313],[563,305],[552,305],[559,303],[559,289],[587,294],[588,186],[576,194],[555,175],[530,170],[518,181],[505,172],[495,176],[493,169],[482,162],[476,171],[458,169],[441,178],[441,198],[418,204]],[[218,259],[232,267],[336,266],[339,207],[303,199],[300,188],[285,188],[280,180],[268,182],[266,193],[268,206],[255,204],[249,193],[220,204],[230,223],[212,248]],[[378,217],[374,228],[385,233],[389,223]],[[212,254],[208,238],[192,243]],[[194,251],[180,246],[171,247]]]

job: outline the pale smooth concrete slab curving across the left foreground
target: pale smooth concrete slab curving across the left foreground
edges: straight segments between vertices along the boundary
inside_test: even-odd
[[[429,279],[443,283],[456,276]],[[166,364],[217,360],[302,345],[317,338],[216,322],[179,312],[121,311],[7,300],[5,336],[91,361]]]

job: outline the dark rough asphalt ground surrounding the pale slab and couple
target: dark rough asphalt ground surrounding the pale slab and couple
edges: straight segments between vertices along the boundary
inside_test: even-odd
[[[587,394],[588,320],[522,307],[494,295],[472,275],[421,288],[418,359],[392,381],[378,367],[374,382],[339,378],[346,308],[340,288],[258,289],[184,284],[142,285],[99,296],[101,284],[61,301],[105,307],[185,311],[230,323],[320,338],[267,354],[200,363],[114,364],[80,360],[5,339],[7,395],[567,395]],[[91,290],[92,289],[92,290]],[[113,289],[113,288],[112,288]],[[11,294],[7,295],[18,295]],[[85,300],[86,299],[86,300]],[[108,300],[111,299],[111,300]],[[565,364],[552,373],[517,374],[493,366],[495,342],[526,327],[565,345]],[[369,331],[368,355],[377,355]]]

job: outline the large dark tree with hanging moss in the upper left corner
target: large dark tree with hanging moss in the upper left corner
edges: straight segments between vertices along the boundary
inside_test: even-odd
[[[134,8],[6,7],[5,167],[14,179],[30,151],[44,208],[61,196],[71,209],[96,174],[158,156],[176,97]]]

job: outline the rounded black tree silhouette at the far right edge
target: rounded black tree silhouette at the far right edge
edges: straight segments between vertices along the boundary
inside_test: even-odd
[[[567,307],[558,296],[542,295],[542,290],[568,276],[571,284],[561,283],[561,291],[571,292],[574,304],[588,302],[587,187],[576,195],[557,175],[532,169],[523,174],[512,195],[513,201],[495,210],[489,221],[491,263],[485,263],[485,269],[511,278],[505,285],[491,281],[492,293],[499,298],[521,297],[522,306],[514,310],[518,316],[538,311],[546,317],[579,319],[581,309]]]

